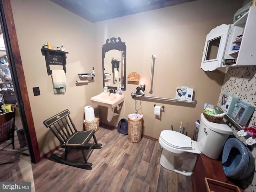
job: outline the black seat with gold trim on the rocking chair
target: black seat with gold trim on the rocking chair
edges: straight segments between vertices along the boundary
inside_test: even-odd
[[[66,144],[62,146],[72,146],[72,147],[85,146],[90,141],[94,133],[95,133],[95,130],[75,132],[66,141]]]

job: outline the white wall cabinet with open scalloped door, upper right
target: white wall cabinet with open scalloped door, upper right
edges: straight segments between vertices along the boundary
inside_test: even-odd
[[[201,68],[256,65],[256,6],[234,24],[222,24],[206,36]],[[241,37],[238,37],[242,35]]]

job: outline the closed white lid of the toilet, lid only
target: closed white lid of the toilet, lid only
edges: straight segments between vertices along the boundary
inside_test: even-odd
[[[161,132],[160,137],[164,143],[173,148],[186,150],[192,149],[191,138],[182,133],[164,130]]]

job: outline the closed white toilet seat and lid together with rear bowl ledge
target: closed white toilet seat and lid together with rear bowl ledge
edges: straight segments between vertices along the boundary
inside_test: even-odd
[[[186,151],[200,154],[198,142],[191,140],[190,137],[172,130],[163,130],[159,137],[162,147],[172,152]]]

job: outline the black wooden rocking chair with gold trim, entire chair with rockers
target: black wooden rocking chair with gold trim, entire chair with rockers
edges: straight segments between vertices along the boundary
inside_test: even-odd
[[[65,148],[64,159],[56,154],[51,154],[50,159],[58,163],[79,168],[92,166],[92,163],[87,162],[88,152],[90,152],[92,148],[100,148],[101,146],[94,135],[95,130],[77,131],[72,119],[70,118],[70,112],[68,109],[48,118],[43,123],[47,128],[50,128],[56,138],[58,138],[61,142],[61,147]],[[92,137],[94,141],[89,143]],[[84,162],[72,162],[67,160],[68,152],[73,148],[79,148],[82,150]],[[87,155],[84,151],[85,148],[89,148]]]

